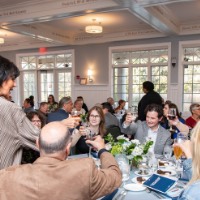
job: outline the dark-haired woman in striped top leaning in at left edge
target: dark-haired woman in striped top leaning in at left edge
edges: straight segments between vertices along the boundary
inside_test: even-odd
[[[40,130],[22,108],[7,100],[19,74],[14,63],[0,56],[0,169],[21,163],[22,147],[37,150],[35,141]]]

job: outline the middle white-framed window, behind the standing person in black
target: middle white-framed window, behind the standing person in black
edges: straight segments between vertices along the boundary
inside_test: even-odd
[[[112,50],[112,86],[115,101],[119,99],[127,101],[126,109],[137,106],[144,95],[142,83],[147,80],[152,81],[155,91],[167,100],[168,49],[166,45],[146,50]]]

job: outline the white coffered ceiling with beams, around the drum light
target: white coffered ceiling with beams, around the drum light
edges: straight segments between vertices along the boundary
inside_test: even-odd
[[[0,0],[0,51],[200,33],[200,0]],[[103,32],[89,34],[92,20]]]

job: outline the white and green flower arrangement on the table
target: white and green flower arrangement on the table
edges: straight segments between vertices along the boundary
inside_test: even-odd
[[[149,151],[149,148],[153,145],[153,141],[147,140],[144,144],[140,144],[139,140],[129,140],[128,138],[120,135],[117,137],[117,141],[109,133],[105,140],[108,141],[106,149],[110,151],[112,155],[125,154],[129,161],[134,162],[136,165],[142,160],[143,156]]]

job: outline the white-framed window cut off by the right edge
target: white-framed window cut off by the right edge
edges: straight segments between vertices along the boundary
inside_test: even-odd
[[[183,110],[189,111],[200,97],[200,44],[183,48]]]

